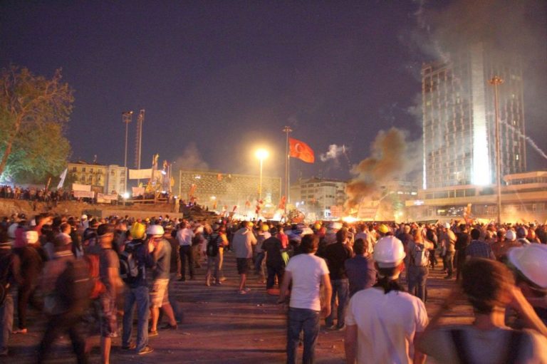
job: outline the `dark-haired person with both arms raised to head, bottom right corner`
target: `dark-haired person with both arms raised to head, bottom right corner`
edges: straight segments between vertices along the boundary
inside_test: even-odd
[[[491,259],[469,260],[462,288],[473,306],[471,325],[439,326],[439,319],[460,296],[456,288],[420,338],[417,348],[437,363],[547,363],[547,328],[514,286],[506,267]],[[533,323],[533,329],[512,331],[504,325],[507,307]]]

